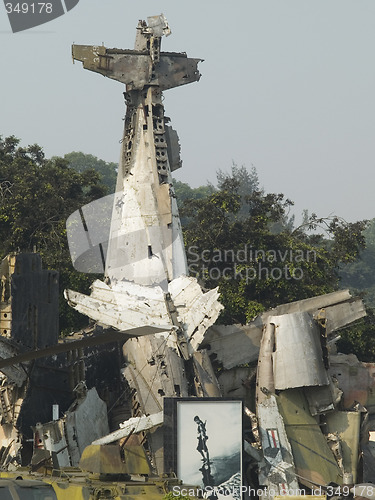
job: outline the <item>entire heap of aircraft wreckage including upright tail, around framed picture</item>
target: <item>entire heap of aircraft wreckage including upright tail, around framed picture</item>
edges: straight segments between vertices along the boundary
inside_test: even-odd
[[[69,397],[40,396],[40,407],[58,403],[66,413],[52,422],[45,412],[33,414],[34,421],[28,422],[34,427],[33,463],[52,457],[56,467],[77,465],[90,443],[131,436],[146,447],[154,473],[171,472],[164,470],[164,398],[234,397],[245,404],[244,479],[249,485],[268,487],[277,495],[293,494],[301,487],[375,481],[369,441],[370,431],[375,431],[375,364],[338,354],[335,348],[336,332],[365,315],[362,301],[343,290],[280,305],[244,326],[215,325],[222,309],[218,290],[203,291],[188,276],[171,177],[181,166],[179,144],[167,125],[162,91],[198,81],[200,59],[161,52],[161,38],[168,34],[161,15],[139,22],[134,50],[73,45],[73,58],[84,68],[126,84],[127,111],[108,234],[98,236],[97,219],[88,215],[88,206],[73,214],[68,224],[76,267],[97,271],[102,266],[105,279],[93,283],[90,296],[67,290],[66,298],[104,328],[102,335],[126,342],[123,362],[116,349],[107,360],[115,367],[122,365],[122,380],[111,385],[109,375],[98,392],[92,376],[85,389],[87,363],[90,360],[91,373],[99,379],[92,364],[108,348],[101,347],[93,357],[86,343],[75,362],[60,355],[60,370],[75,374]],[[39,327],[32,302],[24,304],[23,311],[12,309],[17,272],[15,267],[5,269],[10,261],[4,262],[0,351],[2,358],[9,358],[22,351],[14,342],[17,314],[23,318],[21,330],[30,338],[38,338]],[[46,279],[48,290],[53,276]],[[46,304],[49,300],[43,299]],[[92,332],[80,338],[87,342]],[[34,343],[26,351],[53,343],[57,338]],[[63,349],[74,352],[73,344]],[[30,354],[31,367],[32,358]],[[4,465],[19,453],[19,408],[27,388],[33,387],[29,365],[25,372],[25,365],[10,364],[0,362],[2,449],[11,457]],[[68,409],[74,388],[78,399]],[[98,393],[111,405],[109,412],[117,408],[127,418],[112,419],[109,425]],[[87,418],[92,433],[87,432]]]

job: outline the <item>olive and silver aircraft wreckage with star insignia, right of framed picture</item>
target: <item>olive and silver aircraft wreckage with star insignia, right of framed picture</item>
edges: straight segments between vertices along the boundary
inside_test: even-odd
[[[296,491],[296,481],[325,492],[331,483],[348,486],[363,478],[360,443],[368,442],[369,412],[345,401],[348,379],[335,375],[331,342],[334,325],[365,314],[361,301],[346,304],[266,318],[256,382],[263,448],[259,480],[275,494]]]

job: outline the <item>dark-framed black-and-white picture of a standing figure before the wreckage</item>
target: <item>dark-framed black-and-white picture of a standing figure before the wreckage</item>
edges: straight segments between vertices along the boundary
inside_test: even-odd
[[[227,500],[239,500],[242,411],[238,399],[165,398],[165,472],[175,472],[185,485],[216,492],[216,498],[225,492]]]

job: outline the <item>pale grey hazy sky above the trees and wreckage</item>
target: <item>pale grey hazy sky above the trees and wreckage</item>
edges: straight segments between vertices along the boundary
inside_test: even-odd
[[[297,216],[375,217],[373,0],[80,0],[19,33],[0,4],[0,135],[117,162],[123,85],[73,65],[71,44],[133,48],[138,19],[160,13],[162,50],[204,59],[198,83],[164,94],[178,180],[214,183],[234,162]]]

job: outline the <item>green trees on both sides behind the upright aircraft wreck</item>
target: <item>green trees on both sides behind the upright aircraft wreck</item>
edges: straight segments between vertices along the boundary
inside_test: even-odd
[[[88,293],[93,276],[73,269],[65,221],[113,191],[115,175],[115,164],[92,155],[73,152],[47,160],[36,144],[22,148],[14,136],[0,138],[1,256],[35,249],[45,267],[59,271],[61,292],[73,288]],[[349,224],[306,213],[303,224],[294,228],[292,202],[282,194],[264,193],[255,168],[248,172],[232,165],[229,174],[218,173],[217,188],[193,189],[179,181],[174,187],[182,205],[190,272],[206,288],[219,286],[225,306],[220,322],[245,323],[280,303],[336,290],[339,270],[344,284],[346,279],[354,288],[368,290],[374,285],[374,221],[365,232],[365,250],[364,221]],[[318,227],[325,233],[310,232]],[[356,261],[358,255],[361,260]],[[348,329],[342,345],[372,357],[366,332],[373,332],[374,323],[366,321]],[[61,329],[85,323],[87,318],[71,309],[61,293]]]

